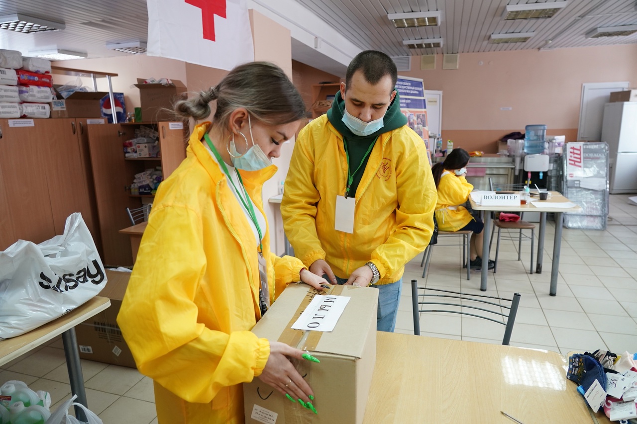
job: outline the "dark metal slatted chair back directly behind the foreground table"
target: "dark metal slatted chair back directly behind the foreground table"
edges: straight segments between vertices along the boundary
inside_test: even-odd
[[[424,293],[419,294],[419,290],[423,290]],[[436,292],[436,294],[427,294],[429,292]],[[422,297],[422,302],[420,298]],[[432,298],[431,302],[429,302]],[[438,301],[434,301],[439,299]],[[457,299],[457,300],[454,300]],[[462,304],[461,300],[468,300],[471,304]],[[513,324],[515,323],[515,315],[517,314],[517,308],[520,304],[520,293],[514,293],[513,299],[504,299],[502,297],[487,296],[487,295],[474,295],[469,293],[452,292],[450,290],[440,290],[438,288],[426,288],[419,287],[418,280],[412,279],[412,310],[413,310],[413,334],[420,336],[420,313],[421,312],[447,312],[453,314],[461,314],[468,316],[475,316],[476,318],[482,318],[483,320],[489,320],[502,324],[505,326],[505,336],[502,339],[502,344],[509,344],[511,340],[511,333],[513,332]],[[451,311],[449,309],[420,309],[421,305],[429,308],[429,305],[445,306],[457,306],[459,311]],[[497,311],[490,311],[480,306],[499,306],[503,310],[508,310],[508,313],[501,313]],[[464,312],[463,309],[471,309],[469,312]],[[482,311],[482,314],[480,314]],[[472,313],[473,312],[473,313]],[[488,314],[487,314],[488,313]],[[491,318],[493,317],[493,318]],[[494,318],[503,317],[503,320],[496,320]]]

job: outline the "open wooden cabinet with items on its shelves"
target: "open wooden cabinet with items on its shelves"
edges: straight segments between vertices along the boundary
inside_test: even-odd
[[[172,124],[159,122],[87,126],[104,264],[132,265],[129,236],[120,234],[119,230],[131,226],[125,209],[139,208],[142,203],[142,196],[131,195],[128,189],[135,174],[161,165],[162,176],[166,179],[186,157],[187,134],[181,123]],[[134,138],[134,130],[140,125],[152,127],[159,132],[161,159],[124,158],[122,145],[124,141]]]

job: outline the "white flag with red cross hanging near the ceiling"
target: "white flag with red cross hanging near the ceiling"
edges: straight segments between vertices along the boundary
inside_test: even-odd
[[[148,0],[147,54],[228,70],[254,60],[247,1]]]

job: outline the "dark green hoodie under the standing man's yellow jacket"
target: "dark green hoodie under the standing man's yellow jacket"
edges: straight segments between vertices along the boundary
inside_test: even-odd
[[[369,146],[376,142],[376,139],[380,136],[380,134],[385,134],[385,132],[395,130],[407,124],[407,118],[400,111],[400,99],[397,91],[394,100],[389,105],[389,108],[387,108],[385,117],[383,117],[383,127],[369,136],[357,136],[350,131],[347,125],[345,125],[345,122],[343,122],[344,110],[345,100],[341,97],[341,92],[339,90],[334,96],[332,107],[327,111],[327,119],[330,124],[334,125],[336,131],[340,132],[341,136],[343,136],[343,141],[347,145],[347,153],[349,155],[352,172],[354,172],[359,166],[361,160],[365,156],[365,153],[369,149]],[[368,160],[369,155],[364,159],[361,169],[354,174],[354,181],[352,181],[352,186],[350,187],[350,195],[356,193],[356,189],[361,183],[364,169],[367,167]]]

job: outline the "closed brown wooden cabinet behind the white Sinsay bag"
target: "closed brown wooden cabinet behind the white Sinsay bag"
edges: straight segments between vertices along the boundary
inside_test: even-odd
[[[0,250],[17,239],[41,243],[64,232],[67,216],[82,216],[96,234],[84,183],[87,171],[75,119],[0,120]]]

